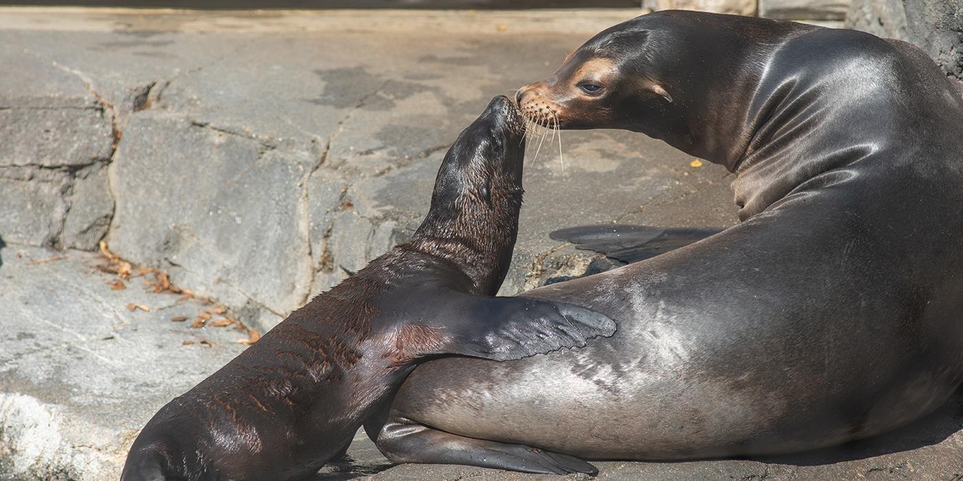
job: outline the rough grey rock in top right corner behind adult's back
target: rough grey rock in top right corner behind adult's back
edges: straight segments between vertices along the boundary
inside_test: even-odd
[[[961,87],[963,0],[853,0],[846,27],[913,43]]]

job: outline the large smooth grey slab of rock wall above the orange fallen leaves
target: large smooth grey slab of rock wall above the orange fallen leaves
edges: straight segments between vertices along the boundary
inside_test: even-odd
[[[136,263],[171,266],[196,293],[284,316],[310,279],[310,162],[171,114],[134,115],[111,165],[110,245]]]

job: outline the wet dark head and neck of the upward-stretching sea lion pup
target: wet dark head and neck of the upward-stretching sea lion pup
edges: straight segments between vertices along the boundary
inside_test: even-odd
[[[494,294],[518,234],[525,119],[504,95],[458,135],[445,155],[425,221],[413,242],[459,264],[476,289]]]

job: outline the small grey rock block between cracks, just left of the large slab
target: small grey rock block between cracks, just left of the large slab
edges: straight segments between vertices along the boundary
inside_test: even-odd
[[[66,196],[68,210],[64,220],[63,246],[95,250],[114,215],[114,199],[107,181],[107,165],[97,163],[74,176]]]

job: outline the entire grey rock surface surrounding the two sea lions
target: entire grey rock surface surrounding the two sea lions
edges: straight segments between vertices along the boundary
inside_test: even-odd
[[[0,9],[0,479],[116,478],[136,430],[241,348],[230,328],[169,320],[203,306],[137,279],[113,291],[90,267],[99,254],[75,249],[106,241],[263,331],[413,232],[445,149],[491,96],[635,13]],[[551,241],[556,228],[736,220],[716,166],[627,132],[560,141],[530,143],[503,293],[586,270],[595,256]],[[181,343],[197,337],[217,345]],[[960,406],[780,460],[599,466],[609,479],[960,479]],[[531,478],[393,467],[363,435],[350,456],[320,477]]]

